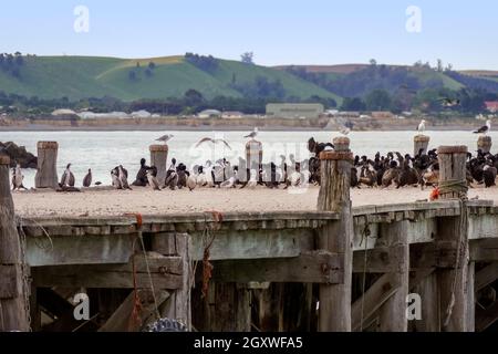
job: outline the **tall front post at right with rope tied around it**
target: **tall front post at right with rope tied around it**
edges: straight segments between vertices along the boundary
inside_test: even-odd
[[[464,332],[468,330],[468,295],[474,292],[474,284],[468,283],[474,277],[468,277],[467,146],[439,146],[437,153],[440,198],[461,201],[459,216],[442,217],[437,223],[436,246],[455,254],[454,267],[437,270],[440,330]]]

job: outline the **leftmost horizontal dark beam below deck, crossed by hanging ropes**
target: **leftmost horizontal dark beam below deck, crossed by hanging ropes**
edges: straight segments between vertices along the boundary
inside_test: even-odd
[[[180,289],[184,264],[181,257],[148,258],[151,279],[157,289]],[[32,268],[37,287],[134,288],[133,264],[54,266]],[[145,259],[135,260],[137,288],[151,288]]]

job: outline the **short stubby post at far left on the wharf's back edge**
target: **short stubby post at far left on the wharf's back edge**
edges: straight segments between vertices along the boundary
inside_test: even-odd
[[[34,187],[58,188],[58,149],[56,142],[38,142],[38,168]]]

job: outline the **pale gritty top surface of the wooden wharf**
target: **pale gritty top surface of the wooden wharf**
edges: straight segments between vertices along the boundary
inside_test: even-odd
[[[430,189],[353,189],[353,207],[413,202],[427,199]],[[143,215],[204,211],[290,211],[315,210],[319,187],[308,189],[215,189],[198,188],[153,191],[87,189],[82,192],[14,191],[15,212],[20,216],[118,216],[125,212]],[[498,204],[498,188],[477,186],[469,189],[469,198],[490,199]]]

